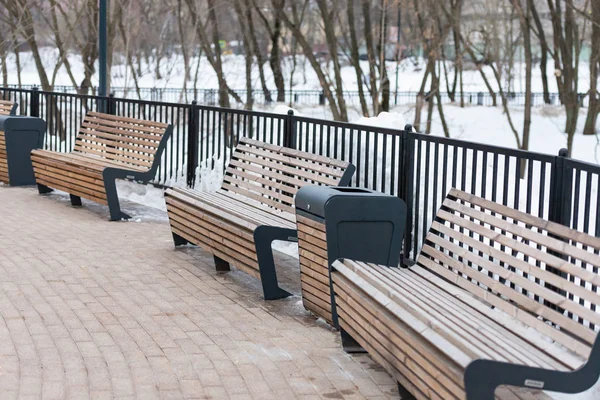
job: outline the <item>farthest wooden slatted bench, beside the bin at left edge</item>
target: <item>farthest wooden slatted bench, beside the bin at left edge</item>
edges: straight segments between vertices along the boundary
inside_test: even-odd
[[[108,205],[112,221],[127,219],[119,206],[116,179],[152,180],[172,131],[161,122],[89,112],[72,152],[31,152],[39,192],[62,190],[74,206],[81,206],[83,197]]]

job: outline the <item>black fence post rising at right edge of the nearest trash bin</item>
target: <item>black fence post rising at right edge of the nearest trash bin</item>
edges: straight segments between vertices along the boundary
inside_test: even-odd
[[[401,147],[401,155],[402,160],[400,162],[401,171],[398,174],[398,179],[400,179],[401,187],[398,190],[398,197],[404,200],[406,203],[406,232],[404,234],[404,246],[402,249],[402,254],[400,257],[401,265],[410,266],[413,264],[412,260],[409,259],[410,253],[413,250],[412,242],[413,242],[413,203],[414,203],[414,190],[413,190],[413,181],[414,181],[414,168],[415,168],[415,141],[414,141],[414,131],[411,124],[406,124],[404,126],[404,131],[402,132],[402,136],[400,136],[400,147]]]

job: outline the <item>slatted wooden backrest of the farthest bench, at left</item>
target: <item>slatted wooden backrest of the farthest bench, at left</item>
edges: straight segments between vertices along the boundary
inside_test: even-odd
[[[89,112],[77,134],[74,150],[127,167],[154,169],[172,129],[162,122]]]

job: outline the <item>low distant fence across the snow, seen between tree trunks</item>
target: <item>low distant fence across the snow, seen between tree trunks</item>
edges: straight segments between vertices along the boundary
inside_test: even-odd
[[[32,90],[35,85],[9,85],[7,88],[11,89],[26,89]],[[74,86],[54,86],[54,92],[56,93],[69,93],[78,94],[79,91]],[[246,100],[247,91],[245,89],[234,90],[234,92],[243,100]],[[218,89],[181,89],[181,88],[125,88],[114,86],[111,87],[111,93],[114,97],[124,99],[135,99],[135,100],[146,100],[154,102],[169,102],[169,103],[190,103],[192,100],[196,100],[198,104],[214,106],[219,104],[219,91]],[[90,95],[97,95],[97,88],[92,87],[89,90]],[[252,90],[252,98],[256,104],[268,105],[277,99],[277,91],[269,91],[271,101],[268,100],[265,92],[261,89]],[[417,100],[418,92],[391,92],[390,103],[393,105],[409,105],[415,104]],[[502,100],[500,94],[496,95],[496,104],[500,106]],[[365,94],[365,100],[370,102],[370,96]],[[582,107],[587,107],[588,96],[585,93],[579,95]],[[451,103],[452,99],[447,92],[442,91],[440,98],[444,103]],[[360,107],[360,95],[357,90],[346,90],[344,91],[344,99],[350,105]],[[232,102],[234,98],[230,99]],[[456,103],[460,102],[460,93],[457,92],[454,98]],[[474,106],[492,106],[494,104],[493,96],[489,92],[465,92],[464,93],[465,104]],[[514,93],[509,92],[507,94],[508,104],[512,106],[524,106],[525,105],[525,93]],[[550,105],[560,105],[560,97],[558,93],[549,93]],[[544,94],[543,93],[532,93],[531,102],[534,107],[543,106]],[[323,94],[322,90],[286,90],[285,91],[285,103],[292,105],[304,105],[304,106],[318,106],[327,105],[327,98]]]

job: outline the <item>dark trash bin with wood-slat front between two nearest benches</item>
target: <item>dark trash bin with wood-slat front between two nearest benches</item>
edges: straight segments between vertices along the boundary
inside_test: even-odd
[[[368,189],[305,186],[296,194],[296,222],[304,307],[329,323],[329,266],[339,258],[398,266],[406,205]]]

